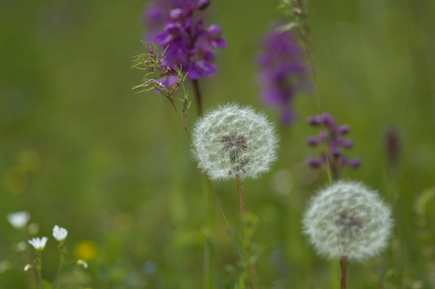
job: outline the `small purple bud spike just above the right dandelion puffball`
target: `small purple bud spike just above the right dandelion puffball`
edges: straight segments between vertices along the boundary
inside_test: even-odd
[[[361,160],[358,158],[347,159],[341,149],[349,149],[353,146],[353,141],[344,139],[343,135],[350,131],[348,125],[337,125],[334,117],[329,113],[323,113],[315,117],[308,117],[307,122],[316,127],[321,127],[323,130],[316,137],[308,137],[306,142],[310,146],[322,146],[326,142],[328,153],[322,154],[320,158],[307,158],[306,163],[311,167],[321,167],[329,163],[334,180],[340,176],[342,167],[357,168],[361,165]]]

